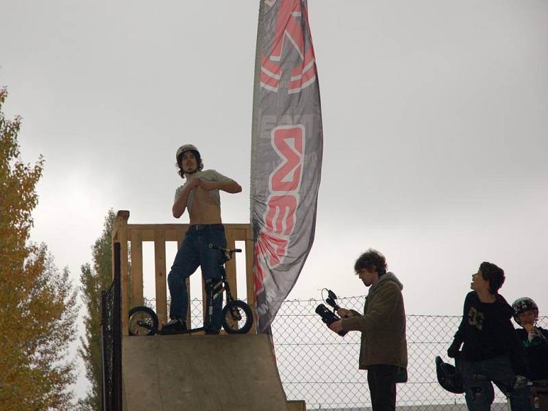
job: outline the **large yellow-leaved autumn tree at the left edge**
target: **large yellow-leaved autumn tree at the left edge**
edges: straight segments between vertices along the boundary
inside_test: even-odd
[[[21,117],[5,119],[0,89],[0,409],[70,410],[76,290],[44,244],[30,242],[42,156],[21,161]]]

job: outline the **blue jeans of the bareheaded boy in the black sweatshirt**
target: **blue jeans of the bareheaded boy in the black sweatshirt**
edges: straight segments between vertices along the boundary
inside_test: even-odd
[[[531,411],[529,387],[512,389],[514,371],[508,357],[496,357],[483,361],[464,361],[464,397],[469,411],[489,411],[495,391],[493,383],[505,395],[510,393],[512,411]]]

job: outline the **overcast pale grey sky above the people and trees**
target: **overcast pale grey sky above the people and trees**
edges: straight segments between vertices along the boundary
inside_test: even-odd
[[[75,282],[109,208],[188,222],[171,216],[186,142],[243,187],[222,195],[223,221],[249,222],[257,1],[1,9],[4,112],[23,116],[23,159],[46,160],[32,239]],[[506,271],[508,301],[547,314],[548,3],[310,0],[309,15],[323,171],[290,298],[364,294],[353,262],[374,247],[408,314],[460,314],[484,260]]]

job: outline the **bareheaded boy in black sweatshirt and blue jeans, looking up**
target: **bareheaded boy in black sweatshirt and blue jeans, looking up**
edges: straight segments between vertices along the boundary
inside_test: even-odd
[[[510,395],[512,411],[529,411],[525,351],[512,326],[512,307],[499,294],[504,271],[482,262],[472,275],[472,291],[464,299],[462,321],[447,355],[462,359],[464,397],[470,411],[489,411],[493,383]],[[459,351],[460,345],[462,353]]]

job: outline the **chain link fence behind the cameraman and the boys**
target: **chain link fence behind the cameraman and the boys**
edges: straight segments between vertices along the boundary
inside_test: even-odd
[[[363,312],[364,296],[338,298],[338,304]],[[371,410],[366,371],[358,370],[360,332],[340,337],[314,312],[322,299],[284,301],[272,324],[279,375],[288,400],[306,401],[307,410]],[[192,327],[201,327],[202,301],[191,301]],[[153,301],[147,301],[153,308]],[[397,408],[409,411],[465,411],[464,394],[438,384],[436,356],[448,361],[461,316],[407,314],[408,382],[397,384]],[[539,325],[547,327],[548,317]],[[452,360],[451,360],[452,362]],[[506,411],[495,388],[493,411]]]

